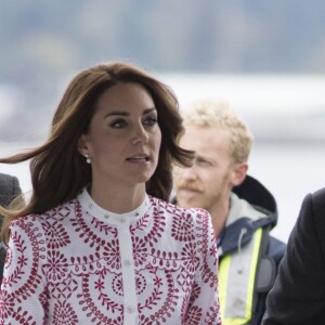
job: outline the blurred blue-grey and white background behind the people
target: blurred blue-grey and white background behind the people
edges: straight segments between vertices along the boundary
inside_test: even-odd
[[[250,126],[250,174],[275,196],[287,240],[301,200],[325,185],[325,2],[0,2],[0,155],[40,144],[70,78],[123,60],[158,76],[180,107],[222,98]],[[25,192],[28,164],[6,166]]]

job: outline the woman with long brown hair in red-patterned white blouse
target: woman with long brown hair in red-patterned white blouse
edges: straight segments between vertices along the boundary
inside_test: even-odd
[[[79,73],[6,216],[0,323],[221,324],[210,216],[169,203],[194,153],[171,90],[125,63]]]

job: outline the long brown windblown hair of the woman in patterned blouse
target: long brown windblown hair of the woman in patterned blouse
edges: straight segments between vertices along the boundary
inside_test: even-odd
[[[100,64],[80,72],[68,84],[54,114],[49,139],[39,147],[0,159],[16,164],[30,159],[32,193],[26,207],[2,209],[5,218],[2,242],[9,240],[9,224],[29,213],[43,213],[75,198],[91,183],[91,169],[78,153],[78,140],[87,133],[101,94],[118,82],[136,82],[152,95],[161,130],[157,168],[146,183],[150,195],[168,200],[172,190],[172,164],[192,165],[194,153],[178,145],[183,132],[178,101],[171,89],[140,68],[122,62]]]

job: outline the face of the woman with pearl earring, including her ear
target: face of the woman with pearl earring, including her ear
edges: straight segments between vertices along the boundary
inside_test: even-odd
[[[150,93],[139,83],[117,83],[98,100],[79,152],[89,155],[92,186],[130,188],[153,176],[161,132]]]

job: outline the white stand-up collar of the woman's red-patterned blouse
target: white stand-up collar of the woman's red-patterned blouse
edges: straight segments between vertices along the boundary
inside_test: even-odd
[[[150,198],[145,194],[143,203],[134,210],[126,213],[115,213],[100,207],[89,195],[87,188],[83,188],[78,195],[78,202],[81,207],[91,216],[112,224],[130,224],[142,218],[150,208]]]

